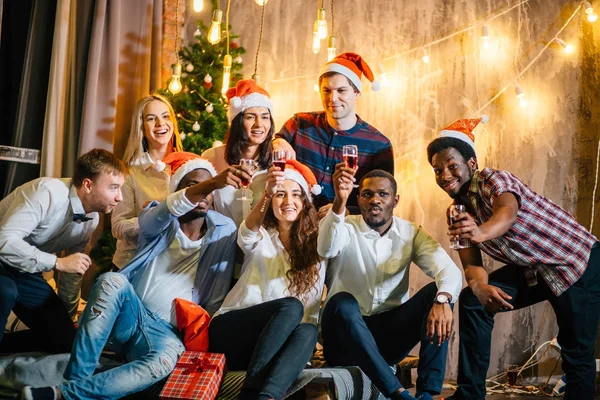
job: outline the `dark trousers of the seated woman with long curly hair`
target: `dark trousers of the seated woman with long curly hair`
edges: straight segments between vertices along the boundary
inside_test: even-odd
[[[210,322],[210,351],[229,370],[246,370],[240,399],[281,399],[311,359],[317,327],[301,323],[302,303],[285,297],[221,314]]]

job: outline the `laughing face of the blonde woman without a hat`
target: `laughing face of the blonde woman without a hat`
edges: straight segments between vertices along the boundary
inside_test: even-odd
[[[169,107],[160,100],[152,100],[144,107],[142,124],[148,150],[160,150],[172,144],[173,119]]]

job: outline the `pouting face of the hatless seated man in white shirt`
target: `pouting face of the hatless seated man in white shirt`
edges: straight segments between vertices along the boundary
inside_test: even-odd
[[[358,190],[358,207],[363,219],[379,233],[385,232],[392,223],[394,208],[399,200],[392,183],[382,177],[365,178]]]

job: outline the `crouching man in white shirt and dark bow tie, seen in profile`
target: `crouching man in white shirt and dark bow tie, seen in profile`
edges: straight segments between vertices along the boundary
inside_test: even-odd
[[[91,265],[83,251],[98,213],[121,201],[126,172],[112,153],[94,149],[77,160],[73,178],[38,178],[0,202],[0,353],[71,351],[69,313],[77,310],[81,277]],[[58,296],[42,277],[51,270]],[[30,331],[3,338],[11,311]]]

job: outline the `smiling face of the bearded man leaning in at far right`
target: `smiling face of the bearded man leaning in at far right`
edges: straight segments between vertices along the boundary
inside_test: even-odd
[[[454,147],[440,151],[431,158],[431,166],[435,173],[435,181],[448,195],[456,199],[466,194],[477,169],[474,158],[465,161]]]

